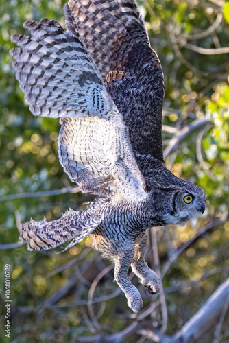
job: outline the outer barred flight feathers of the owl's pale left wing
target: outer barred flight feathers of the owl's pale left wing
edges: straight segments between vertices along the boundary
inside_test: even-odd
[[[98,69],[80,38],[53,19],[27,21],[30,36],[12,36],[19,48],[10,50],[29,109],[43,117],[106,117],[115,110]]]

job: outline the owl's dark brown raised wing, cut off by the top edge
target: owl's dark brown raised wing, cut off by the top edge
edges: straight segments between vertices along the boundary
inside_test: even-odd
[[[136,1],[69,0],[68,5],[82,43],[123,113],[132,147],[163,161],[162,68]]]

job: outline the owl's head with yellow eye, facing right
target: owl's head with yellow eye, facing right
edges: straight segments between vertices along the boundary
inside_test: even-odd
[[[184,226],[191,218],[204,213],[206,193],[201,187],[176,177],[164,163],[155,158],[150,157],[145,165],[145,180],[151,199],[149,202],[152,211],[160,213],[156,225]]]

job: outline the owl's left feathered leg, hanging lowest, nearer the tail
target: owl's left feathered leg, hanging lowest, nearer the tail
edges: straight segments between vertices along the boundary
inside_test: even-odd
[[[138,289],[130,282],[128,278],[128,270],[134,255],[134,247],[115,258],[115,280],[125,297],[128,299],[128,306],[134,312],[138,312],[143,307],[143,300]]]

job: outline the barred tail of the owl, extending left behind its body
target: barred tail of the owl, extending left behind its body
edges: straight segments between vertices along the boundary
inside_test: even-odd
[[[80,243],[101,223],[101,215],[95,211],[68,211],[58,219],[47,222],[44,218],[40,222],[30,220],[21,224],[20,236],[27,242],[28,250],[49,250],[56,248],[66,241],[73,239],[70,248]]]

